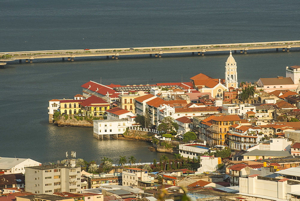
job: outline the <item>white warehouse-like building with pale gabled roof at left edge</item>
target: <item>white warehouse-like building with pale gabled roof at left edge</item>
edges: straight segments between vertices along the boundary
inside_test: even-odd
[[[25,167],[38,166],[41,163],[30,158],[0,157],[0,172],[4,174],[25,173]]]

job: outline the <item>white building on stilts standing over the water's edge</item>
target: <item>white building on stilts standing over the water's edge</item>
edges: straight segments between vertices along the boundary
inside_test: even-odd
[[[122,134],[126,131],[128,126],[132,126],[135,121],[127,121],[124,119],[110,119],[110,120],[93,120],[94,122],[94,137],[102,139],[103,135]]]

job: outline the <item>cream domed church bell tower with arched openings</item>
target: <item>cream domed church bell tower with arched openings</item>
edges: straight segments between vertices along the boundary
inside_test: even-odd
[[[225,63],[225,86],[227,88],[238,88],[238,73],[236,72],[236,62],[231,54]]]

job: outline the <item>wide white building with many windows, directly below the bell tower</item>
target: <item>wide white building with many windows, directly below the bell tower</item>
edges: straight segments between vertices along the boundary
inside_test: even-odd
[[[222,113],[244,115],[248,111],[255,111],[255,106],[248,103],[223,104]]]

